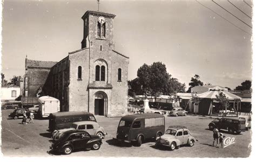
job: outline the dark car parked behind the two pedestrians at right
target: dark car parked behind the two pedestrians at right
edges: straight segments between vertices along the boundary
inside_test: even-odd
[[[224,117],[213,120],[208,126],[210,130],[218,127],[219,129],[228,130],[229,133],[236,132],[239,134],[241,131],[245,131],[245,119]]]

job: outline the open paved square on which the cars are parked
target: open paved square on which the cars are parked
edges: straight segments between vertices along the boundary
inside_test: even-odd
[[[35,124],[22,125],[22,119],[8,119],[13,110],[2,110],[2,153],[4,156],[61,156],[49,154],[51,145],[48,120],[35,120]],[[113,140],[116,137],[117,125],[120,118],[96,117],[98,123],[104,127],[108,135],[103,139],[103,145],[97,151],[73,152],[69,156],[89,157],[248,157],[251,153],[251,131],[234,137],[235,144],[223,148],[211,146],[212,131],[208,130],[208,123],[212,119],[201,116],[165,117],[166,128],[169,125],[185,125],[192,135],[199,141],[193,147],[183,146],[178,150],[158,149],[153,141],[144,143],[140,147]]]

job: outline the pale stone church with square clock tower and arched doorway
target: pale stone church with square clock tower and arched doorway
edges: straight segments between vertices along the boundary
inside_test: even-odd
[[[129,57],[114,50],[115,16],[86,11],[82,48],[69,52],[45,77],[46,95],[60,100],[60,111],[87,111],[107,117],[125,112]]]

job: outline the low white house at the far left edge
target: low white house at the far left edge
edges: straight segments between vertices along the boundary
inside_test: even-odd
[[[17,85],[5,85],[1,87],[1,100],[15,100],[20,95]]]

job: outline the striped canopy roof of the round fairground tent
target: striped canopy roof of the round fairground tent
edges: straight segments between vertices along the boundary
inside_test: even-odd
[[[230,100],[241,100],[241,97],[234,95],[230,92],[226,92],[226,91],[207,91],[204,93],[201,93],[199,95],[199,98],[210,98],[210,99],[217,99],[216,95],[219,96],[219,94],[223,92],[225,94],[225,96],[230,99]]]

